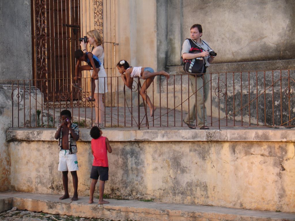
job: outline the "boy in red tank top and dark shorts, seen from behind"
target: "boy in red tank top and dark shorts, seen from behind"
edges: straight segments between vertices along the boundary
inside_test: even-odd
[[[94,126],[90,130],[91,140],[91,153],[94,156],[93,164],[91,168],[90,178],[92,179],[90,184],[90,199],[88,203],[93,203],[93,194],[95,185],[99,177],[99,201],[98,204],[109,203],[103,199],[104,196],[104,183],[109,179],[109,163],[107,152],[112,153],[109,140],[106,137],[101,136],[102,131]]]

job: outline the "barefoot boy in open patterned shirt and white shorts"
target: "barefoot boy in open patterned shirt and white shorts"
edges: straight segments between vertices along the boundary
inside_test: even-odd
[[[79,139],[79,127],[72,123],[71,111],[63,110],[60,112],[62,123],[58,124],[55,139],[59,139],[59,163],[58,171],[63,172],[63,189],[65,194],[59,199],[67,199],[70,197],[68,192],[68,171],[71,172],[73,178],[74,195],[72,201],[78,200],[78,160],[77,160],[77,144]]]

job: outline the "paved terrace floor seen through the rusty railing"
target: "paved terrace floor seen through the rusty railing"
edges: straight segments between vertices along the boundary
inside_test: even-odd
[[[95,120],[95,110],[90,107],[80,107],[69,109],[73,113],[73,121],[78,121],[80,118],[80,126],[90,127],[91,119],[94,122]],[[53,113],[53,108],[50,108],[50,113]],[[154,117],[150,117],[149,114],[146,117],[144,107],[140,107],[140,112],[138,113],[137,108],[128,108],[124,107],[106,107],[106,118],[105,125],[107,127],[135,127],[138,128],[140,124],[140,128],[160,128],[160,127],[172,127],[172,128],[181,128],[181,129],[189,129],[188,126],[183,123],[183,119],[186,117],[187,112],[160,108],[158,107],[154,113]],[[149,112],[149,110],[148,110]],[[167,115],[168,112],[168,115]],[[60,109],[55,109],[55,116],[59,116]],[[132,113],[132,115],[131,115]],[[85,124],[86,122],[86,124]],[[140,123],[138,123],[140,122]],[[211,116],[207,116],[207,124],[210,129],[232,129],[232,128],[261,128],[264,126],[257,126],[256,122],[242,122],[236,121],[232,119],[232,117],[228,118],[214,118]],[[266,127],[264,127],[266,128]],[[198,127],[197,127],[198,129]]]

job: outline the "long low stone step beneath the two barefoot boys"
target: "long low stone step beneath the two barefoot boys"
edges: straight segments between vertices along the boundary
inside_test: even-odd
[[[88,204],[88,197],[59,200],[58,195],[23,192],[1,192],[0,212],[17,207],[18,210],[45,212],[86,218],[142,221],[191,220],[295,220],[295,213],[244,210],[163,202],[107,199],[110,203],[99,205],[98,199]]]

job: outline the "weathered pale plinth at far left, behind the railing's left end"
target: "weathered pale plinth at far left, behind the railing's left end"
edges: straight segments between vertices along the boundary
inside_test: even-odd
[[[12,126],[24,127],[25,124],[33,127],[36,126],[36,110],[40,109],[40,103],[42,103],[41,93],[39,90],[31,87],[30,98],[29,91],[30,88],[28,86],[25,87],[24,93],[22,85],[19,91],[17,89],[12,91],[11,85],[0,85],[0,192],[9,190],[10,185],[9,174],[11,161],[9,157],[8,143],[6,142],[6,130]],[[35,94],[36,91],[37,95]],[[35,97],[38,97],[37,107]],[[24,105],[26,108],[24,108]],[[28,108],[30,106],[32,110]]]

